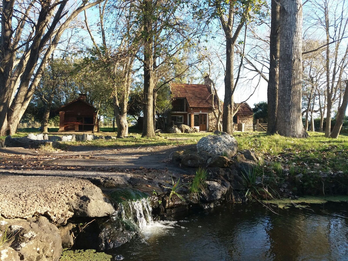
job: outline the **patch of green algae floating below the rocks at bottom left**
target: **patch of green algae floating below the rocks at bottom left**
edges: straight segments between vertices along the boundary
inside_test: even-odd
[[[65,249],[61,254],[60,261],[111,261],[112,255],[96,252],[94,249],[70,250]]]

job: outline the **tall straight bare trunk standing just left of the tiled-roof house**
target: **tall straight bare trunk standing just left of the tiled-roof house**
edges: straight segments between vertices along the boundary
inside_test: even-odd
[[[153,31],[152,31],[152,0],[144,0],[144,109],[142,137],[155,137],[153,125]]]

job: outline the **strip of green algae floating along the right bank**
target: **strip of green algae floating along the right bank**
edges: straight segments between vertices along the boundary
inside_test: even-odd
[[[271,199],[264,201],[264,203],[274,204],[278,205],[279,208],[288,208],[290,206],[295,207],[303,207],[300,203],[305,204],[323,204],[328,201],[331,202],[342,202],[346,201],[348,202],[348,196],[303,196],[297,199],[290,199],[290,198],[284,198],[284,199]]]

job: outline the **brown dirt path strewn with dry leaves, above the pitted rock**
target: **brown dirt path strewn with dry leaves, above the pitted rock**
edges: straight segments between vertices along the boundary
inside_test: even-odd
[[[91,180],[97,185],[131,184],[143,191],[162,190],[194,169],[171,163],[174,151],[187,146],[139,148],[94,148],[70,146],[67,151],[43,153],[34,149],[0,148],[0,174],[70,176]]]

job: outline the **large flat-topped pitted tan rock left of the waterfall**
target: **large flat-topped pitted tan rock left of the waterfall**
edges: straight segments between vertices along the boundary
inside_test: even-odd
[[[114,208],[100,188],[72,177],[0,175],[0,213],[7,218],[47,215],[55,223],[102,217]]]

